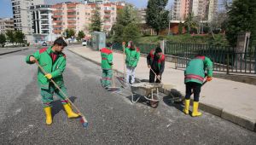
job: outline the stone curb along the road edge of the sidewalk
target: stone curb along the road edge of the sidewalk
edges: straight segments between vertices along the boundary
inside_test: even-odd
[[[75,55],[79,55],[77,52],[75,52],[73,50],[70,50],[70,49],[67,49],[67,50],[72,52]],[[90,58],[87,58],[83,55],[79,55],[79,56],[81,56],[82,58],[84,58],[87,61],[91,61],[91,62],[95,63],[96,65],[101,66],[100,62],[91,60]],[[124,75],[124,73],[121,73],[118,70],[114,69],[114,71],[117,73],[117,75]],[[136,79],[139,80],[139,78],[136,78]],[[161,93],[166,94],[167,96],[169,96],[171,94],[170,90],[166,90],[164,88],[160,88],[159,91]],[[184,96],[184,95],[182,94],[182,96]],[[193,99],[191,99],[191,101],[193,101]],[[248,119],[247,117],[237,115],[236,113],[230,113],[230,112],[224,110],[221,107],[216,107],[214,105],[207,104],[207,103],[204,103],[204,102],[200,103],[199,108],[202,111],[205,111],[207,113],[212,113],[213,115],[218,116],[222,119],[226,119],[226,120],[228,120],[228,121],[230,121],[230,122],[232,122],[236,125],[241,125],[242,127],[246,128],[247,130],[256,132],[256,120]]]

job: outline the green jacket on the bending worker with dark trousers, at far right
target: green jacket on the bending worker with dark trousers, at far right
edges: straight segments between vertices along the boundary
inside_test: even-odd
[[[207,76],[212,77],[212,61],[206,56],[197,56],[195,59],[189,61],[185,74],[185,84],[188,82],[195,82],[203,84],[205,71],[207,69]]]

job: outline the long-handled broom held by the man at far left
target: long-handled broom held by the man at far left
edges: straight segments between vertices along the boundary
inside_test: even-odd
[[[38,64],[38,67],[41,69],[41,71],[44,73],[44,75],[46,75],[47,73],[44,71],[44,68],[42,66],[39,65],[38,63],[38,60],[36,60],[36,63]],[[51,83],[53,83],[55,85],[55,87],[61,91],[61,93],[67,98],[68,102],[77,110],[77,112],[79,113],[80,115],[80,122],[81,124],[83,125],[84,128],[87,128],[88,127],[88,121],[87,119],[85,119],[84,117],[84,114],[81,113],[79,111],[79,108],[76,107],[73,102],[71,102],[69,99],[68,99],[68,96],[61,90],[61,88],[58,86],[58,84],[55,83],[55,81],[53,79],[49,79],[51,81]]]

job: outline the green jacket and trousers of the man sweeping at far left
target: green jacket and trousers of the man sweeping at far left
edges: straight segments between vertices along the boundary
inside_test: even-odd
[[[61,90],[67,95],[67,89],[64,85],[64,80],[62,73],[66,68],[66,55],[61,53],[55,53],[49,48],[39,49],[32,55],[26,56],[26,63],[33,64],[30,61],[30,56],[35,57],[38,60],[40,66],[44,68],[46,73],[50,73],[52,79],[56,84],[59,85]],[[57,90],[54,84],[50,83],[49,79],[44,77],[44,73],[38,67],[38,86],[40,87],[42,102],[44,107],[51,107],[51,102],[53,102],[53,94],[56,93],[57,96],[61,98],[62,104],[67,104],[66,97]]]

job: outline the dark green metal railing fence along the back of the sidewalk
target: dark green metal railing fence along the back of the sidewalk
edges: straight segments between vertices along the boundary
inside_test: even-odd
[[[137,44],[141,53],[148,54],[156,44]],[[123,51],[122,44],[113,44],[113,49]],[[176,67],[185,68],[189,60],[196,54],[209,57],[213,63],[213,70],[226,73],[256,73],[256,46],[249,47],[244,53],[236,53],[230,46],[207,44],[180,44],[166,42],[165,55],[177,58]]]

